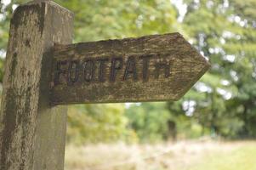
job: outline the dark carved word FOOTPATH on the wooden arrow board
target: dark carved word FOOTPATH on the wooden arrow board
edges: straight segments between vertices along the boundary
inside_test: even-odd
[[[155,62],[150,65],[152,60]],[[159,60],[153,55],[130,56],[126,60],[123,57],[61,60],[55,65],[54,85],[61,83],[72,85],[76,82],[115,82],[117,76],[120,77],[118,79],[120,81],[133,79],[146,82],[151,74],[155,79],[161,74],[168,78],[170,65],[170,60]],[[62,78],[64,80],[61,81],[60,77],[64,77]]]

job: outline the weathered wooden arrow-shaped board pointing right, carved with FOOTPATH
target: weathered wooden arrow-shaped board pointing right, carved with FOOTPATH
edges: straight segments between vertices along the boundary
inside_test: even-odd
[[[56,45],[51,104],[177,100],[208,68],[179,33]]]

